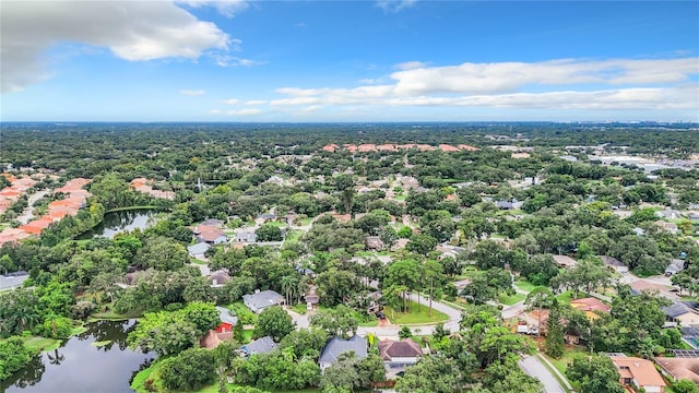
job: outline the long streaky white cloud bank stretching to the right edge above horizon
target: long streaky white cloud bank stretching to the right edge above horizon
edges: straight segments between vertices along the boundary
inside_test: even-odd
[[[698,64],[699,58],[423,64],[394,72],[392,83],[381,85],[277,88],[284,97],[270,105],[696,109],[699,84],[691,76]]]

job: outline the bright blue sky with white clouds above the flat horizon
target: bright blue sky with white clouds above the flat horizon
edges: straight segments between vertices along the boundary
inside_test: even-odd
[[[0,0],[2,121],[699,121],[697,1]]]

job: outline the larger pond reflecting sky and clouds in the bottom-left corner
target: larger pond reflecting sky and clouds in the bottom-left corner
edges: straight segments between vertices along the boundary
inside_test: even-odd
[[[0,381],[0,392],[131,392],[131,378],[155,358],[155,354],[127,347],[127,334],[134,325],[135,320],[88,323],[84,333]],[[93,343],[107,344],[98,347]]]

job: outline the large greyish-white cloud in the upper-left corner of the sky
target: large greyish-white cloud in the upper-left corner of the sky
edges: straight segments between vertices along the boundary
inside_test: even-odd
[[[50,75],[42,53],[59,43],[106,47],[129,61],[197,59],[235,46],[215,24],[170,1],[2,1],[1,91],[17,92]]]

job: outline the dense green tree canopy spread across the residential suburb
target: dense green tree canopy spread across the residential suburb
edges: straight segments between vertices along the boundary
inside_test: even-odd
[[[561,358],[572,350],[564,337],[578,337],[579,352],[643,358],[683,347],[680,331],[663,327],[674,298],[639,293],[637,279],[680,261],[668,290],[680,293],[675,300],[699,294],[697,124],[3,123],[1,132],[0,188],[36,182],[2,212],[0,230],[73,198],[54,191],[71,179],[87,179],[88,195],[40,235],[0,247],[5,274],[29,275],[0,293],[0,379],[42,349],[29,337],[67,340],[88,318],[139,318],[128,345],[158,360],[134,379],[138,391],[356,392],[389,380],[399,392],[540,392],[517,361],[536,346]],[[144,207],[156,213],[142,229],[80,237],[107,214]],[[225,240],[194,257],[208,225]],[[212,284],[216,272],[224,283]],[[281,294],[286,311],[247,310],[244,296],[260,290]],[[611,312],[589,318],[570,306],[587,297]],[[214,305],[238,324],[203,349],[222,322]],[[516,333],[512,306],[546,310],[545,337]],[[296,314],[308,314],[307,327]],[[408,321],[392,325],[396,338],[429,348],[398,377],[372,343],[384,318]],[[344,355],[321,373],[325,344],[359,332],[368,355]],[[276,349],[239,356],[265,336]],[[583,366],[609,378],[607,391],[621,389],[611,364],[576,361],[566,376],[582,392],[595,391]]]

